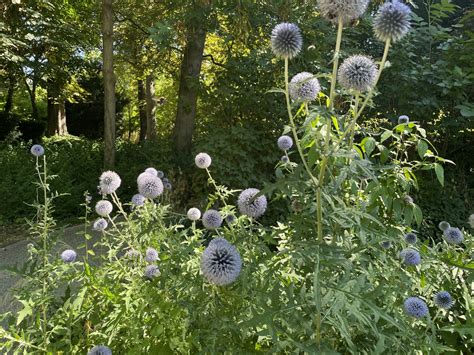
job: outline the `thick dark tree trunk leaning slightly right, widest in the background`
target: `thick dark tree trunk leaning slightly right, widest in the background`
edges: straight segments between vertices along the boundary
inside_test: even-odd
[[[199,74],[206,41],[203,21],[193,21],[187,26],[186,48],[181,63],[179,96],[174,126],[174,146],[179,156],[191,152],[196,119]]]

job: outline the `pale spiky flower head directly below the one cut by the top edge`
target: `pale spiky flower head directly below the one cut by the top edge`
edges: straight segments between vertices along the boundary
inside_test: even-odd
[[[377,66],[365,55],[353,55],[339,67],[338,78],[346,89],[367,91],[375,85]]]

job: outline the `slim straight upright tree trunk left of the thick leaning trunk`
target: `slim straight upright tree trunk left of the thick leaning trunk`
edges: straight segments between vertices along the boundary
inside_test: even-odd
[[[104,167],[115,164],[115,77],[113,62],[112,0],[102,0],[102,41],[104,76]]]

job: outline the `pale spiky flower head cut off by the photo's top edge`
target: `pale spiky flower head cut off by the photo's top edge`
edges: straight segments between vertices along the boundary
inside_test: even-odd
[[[335,23],[341,17],[344,24],[361,17],[368,4],[369,0],[318,0],[322,16]]]

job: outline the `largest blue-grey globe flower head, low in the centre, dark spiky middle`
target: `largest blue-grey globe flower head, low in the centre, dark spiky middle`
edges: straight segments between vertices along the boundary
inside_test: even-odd
[[[201,256],[204,277],[218,286],[234,282],[242,269],[237,249],[224,238],[213,239]]]

